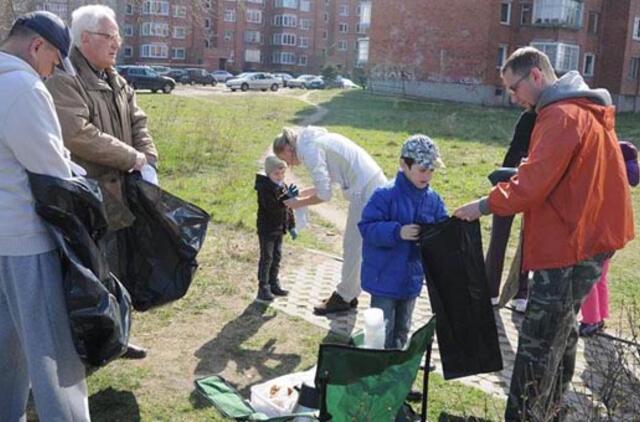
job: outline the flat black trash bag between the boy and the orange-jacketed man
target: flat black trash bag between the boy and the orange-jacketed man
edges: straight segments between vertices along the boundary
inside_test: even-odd
[[[444,378],[501,370],[480,223],[449,218],[424,225],[420,251]]]

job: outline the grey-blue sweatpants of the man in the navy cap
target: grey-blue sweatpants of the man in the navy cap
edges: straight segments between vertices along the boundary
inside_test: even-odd
[[[88,421],[84,365],[71,340],[57,251],[0,256],[0,421]]]

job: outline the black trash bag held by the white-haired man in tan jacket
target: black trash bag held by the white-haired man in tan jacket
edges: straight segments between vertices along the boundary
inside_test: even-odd
[[[129,209],[135,216],[126,230],[124,285],[137,311],[180,299],[198,268],[210,216],[201,208],[142,180],[125,177]]]

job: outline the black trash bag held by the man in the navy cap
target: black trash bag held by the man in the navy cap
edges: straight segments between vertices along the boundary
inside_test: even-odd
[[[98,241],[107,229],[98,184],[29,173],[36,212],[59,247],[71,335],[80,359],[104,366],[127,349],[131,300]]]

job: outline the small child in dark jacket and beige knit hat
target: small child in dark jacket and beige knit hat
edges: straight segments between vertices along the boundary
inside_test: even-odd
[[[278,271],[282,256],[282,237],[288,231],[295,240],[297,232],[293,211],[284,201],[298,194],[295,185],[284,183],[287,163],[275,155],[264,160],[263,174],[256,174],[255,190],[258,192],[258,238],[260,262],[258,264],[258,299],[272,301],[274,296],[289,294],[280,286]]]

